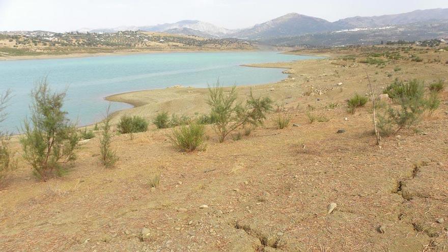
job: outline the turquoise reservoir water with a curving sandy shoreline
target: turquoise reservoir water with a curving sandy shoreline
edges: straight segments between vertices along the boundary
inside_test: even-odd
[[[240,65],[311,58],[276,52],[188,52],[0,61],[0,92],[13,92],[2,127],[17,132],[29,115],[30,91],[45,76],[53,91],[67,88],[64,108],[82,126],[102,119],[108,104],[104,97],[111,94],[175,85],[207,87],[217,78],[225,86],[268,83],[285,78],[282,69]],[[113,103],[113,110],[129,107]]]

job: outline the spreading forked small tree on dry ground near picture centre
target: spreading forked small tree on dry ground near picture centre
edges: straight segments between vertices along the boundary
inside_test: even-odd
[[[236,87],[233,86],[229,94],[224,94],[224,89],[217,82],[209,87],[209,99],[207,103],[211,108],[211,116],[215,118],[214,129],[219,136],[219,143],[230,132],[241,126],[250,124],[258,126],[266,119],[266,113],[272,109],[272,100],[268,97],[254,98],[250,90],[249,99],[246,105],[236,103]]]

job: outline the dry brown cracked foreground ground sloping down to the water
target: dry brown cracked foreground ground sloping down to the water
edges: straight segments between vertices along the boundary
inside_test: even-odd
[[[377,94],[395,78],[448,79],[448,51],[376,46],[292,53],[330,57],[253,66],[285,68],[288,77],[252,87],[276,106],[264,126],[239,141],[218,143],[209,125],[206,150],[182,153],[170,142],[172,129],[151,125],[115,135],[120,159],[106,169],[96,132],[81,142],[68,174],[47,182],[19,158],[0,189],[0,250],[447,251],[447,90],[432,115],[380,146],[371,102],[351,115],[346,99],[368,95],[367,75]],[[237,91],[243,99],[249,88]],[[173,87],[107,99],[136,106],[116,113],[116,123],[124,114],[152,120],[159,111],[207,113],[207,95]],[[326,120],[310,123],[307,113]],[[291,117],[289,127],[277,129],[279,115]],[[17,136],[13,147],[19,156]],[[160,185],[150,188],[158,173]],[[328,213],[330,203],[337,206]]]

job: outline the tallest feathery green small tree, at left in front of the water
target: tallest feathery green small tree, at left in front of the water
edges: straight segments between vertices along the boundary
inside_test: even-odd
[[[75,124],[62,110],[65,95],[52,93],[46,78],[42,79],[31,92],[31,122],[25,119],[20,137],[23,158],[44,181],[52,172],[61,175],[63,164],[76,158],[79,138]]]

